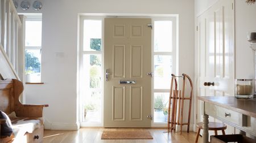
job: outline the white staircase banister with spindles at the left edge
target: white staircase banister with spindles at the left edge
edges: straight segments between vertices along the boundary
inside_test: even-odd
[[[24,19],[12,0],[1,0],[0,73],[5,79],[23,80]]]

